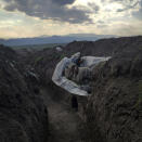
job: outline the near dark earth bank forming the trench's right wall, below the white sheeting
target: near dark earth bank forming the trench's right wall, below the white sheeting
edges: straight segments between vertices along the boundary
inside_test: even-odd
[[[142,141],[142,47],[133,48],[94,68],[85,109],[91,142]]]

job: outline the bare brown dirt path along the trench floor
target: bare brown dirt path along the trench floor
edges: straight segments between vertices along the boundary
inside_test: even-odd
[[[42,89],[41,93],[49,111],[50,138],[49,142],[80,142],[78,114],[69,106],[54,102],[48,92]]]

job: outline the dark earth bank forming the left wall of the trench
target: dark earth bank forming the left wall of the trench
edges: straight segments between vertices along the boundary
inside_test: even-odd
[[[0,141],[43,142],[48,112],[17,54],[0,46]],[[28,80],[28,82],[27,82]]]

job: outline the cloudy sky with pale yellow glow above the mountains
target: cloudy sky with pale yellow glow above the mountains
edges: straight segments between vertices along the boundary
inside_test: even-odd
[[[142,35],[142,0],[0,0],[0,38]]]

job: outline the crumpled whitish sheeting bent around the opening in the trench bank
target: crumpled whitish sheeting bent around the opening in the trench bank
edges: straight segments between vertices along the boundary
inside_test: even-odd
[[[64,57],[60,63],[56,65],[55,70],[52,76],[52,81],[57,85],[59,87],[65,89],[69,93],[77,94],[77,95],[90,95],[87,91],[80,89],[80,86],[75,83],[74,81],[67,79],[63,76],[63,72],[65,67],[72,63],[77,56],[79,56],[79,52],[72,55],[70,59]],[[98,57],[98,56],[82,56],[83,63],[81,66],[91,67],[98,65],[100,62],[108,61],[111,56],[107,57]]]

